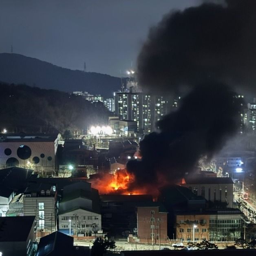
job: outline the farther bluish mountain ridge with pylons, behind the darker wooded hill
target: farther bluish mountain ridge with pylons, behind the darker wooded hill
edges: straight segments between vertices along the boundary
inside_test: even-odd
[[[0,81],[65,92],[82,90],[104,97],[113,97],[121,87],[118,77],[62,68],[15,53],[0,53]]]

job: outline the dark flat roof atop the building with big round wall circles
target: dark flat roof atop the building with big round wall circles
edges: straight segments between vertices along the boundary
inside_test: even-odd
[[[57,139],[58,133],[52,134],[23,134],[23,133],[1,133],[0,142],[49,142]]]

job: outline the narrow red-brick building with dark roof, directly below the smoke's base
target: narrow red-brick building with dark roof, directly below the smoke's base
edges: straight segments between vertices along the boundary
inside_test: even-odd
[[[137,207],[138,242],[165,243],[167,236],[167,210],[157,202]]]

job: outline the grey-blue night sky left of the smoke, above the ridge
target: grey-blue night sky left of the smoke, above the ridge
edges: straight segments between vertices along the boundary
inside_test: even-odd
[[[150,26],[202,0],[1,0],[0,53],[121,76]],[[121,70],[121,74],[120,74]]]

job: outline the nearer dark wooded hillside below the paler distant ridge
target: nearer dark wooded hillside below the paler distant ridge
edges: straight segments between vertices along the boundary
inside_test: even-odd
[[[110,115],[102,102],[26,85],[0,83],[0,102],[0,132],[86,130],[107,124]]]

